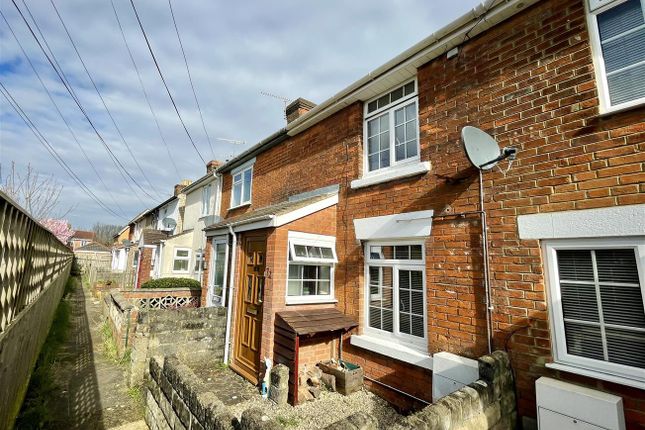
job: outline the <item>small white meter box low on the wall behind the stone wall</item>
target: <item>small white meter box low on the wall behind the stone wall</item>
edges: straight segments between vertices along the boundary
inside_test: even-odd
[[[432,356],[432,401],[453,393],[479,378],[476,360],[449,352]]]

